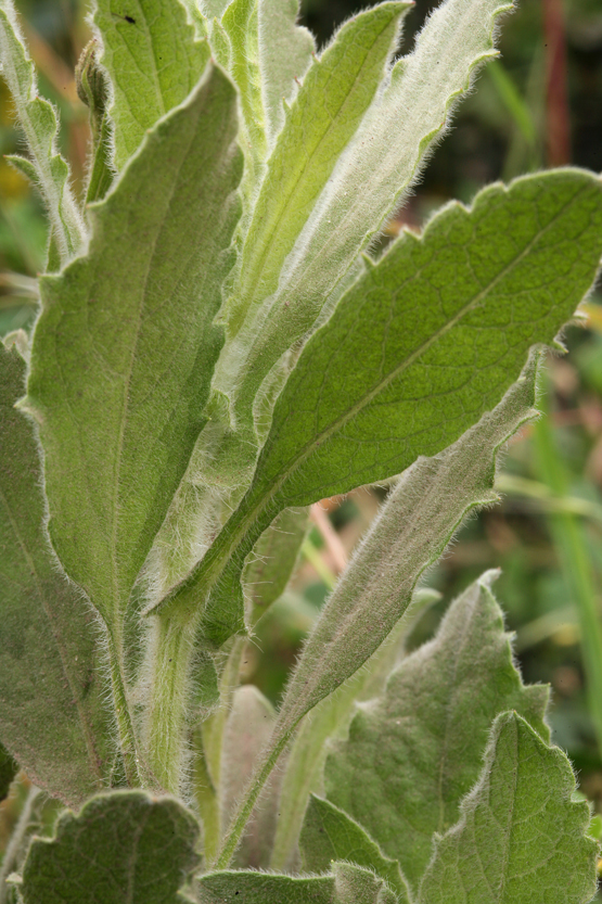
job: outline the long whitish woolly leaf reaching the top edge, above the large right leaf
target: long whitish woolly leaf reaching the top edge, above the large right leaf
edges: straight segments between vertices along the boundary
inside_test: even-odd
[[[240,418],[270,369],[336,301],[357,255],[399,206],[428,147],[445,130],[454,101],[469,88],[478,64],[495,52],[497,20],[508,9],[508,0],[443,3],[414,52],[396,64],[320,196],[311,194],[297,205],[302,212],[294,235],[289,225],[273,235],[276,259],[257,271],[258,277],[265,272],[264,291],[255,283],[257,268],[246,267],[259,308],[249,314],[232,347],[226,346],[216,383],[232,395]],[[285,132],[286,127],[281,139]],[[257,238],[253,246],[266,253]],[[285,250],[290,254],[284,262]]]

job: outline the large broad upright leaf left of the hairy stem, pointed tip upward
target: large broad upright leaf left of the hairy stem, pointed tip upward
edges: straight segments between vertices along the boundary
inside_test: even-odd
[[[204,423],[239,212],[235,131],[234,90],[210,69],[91,206],[87,256],[41,280],[26,404],[40,421],[50,533],[116,642]]]

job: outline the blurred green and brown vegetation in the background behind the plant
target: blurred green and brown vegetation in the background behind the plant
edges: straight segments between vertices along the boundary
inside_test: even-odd
[[[20,0],[40,72],[40,89],[60,109],[62,147],[81,184],[87,111],[73,69],[89,30],[79,0]],[[127,0],[124,0],[126,10]],[[303,22],[319,44],[360,7],[305,0]],[[418,0],[406,22],[411,50],[432,4]],[[501,59],[482,72],[452,128],[389,231],[420,228],[451,198],[470,202],[495,179],[574,164],[602,170],[602,5],[600,0],[523,0],[502,27]],[[0,82],[0,150],[22,150]],[[0,158],[0,330],[31,324],[35,277],[43,266],[46,226],[25,180]],[[550,358],[546,417],[512,443],[501,505],[471,520],[428,575],[441,599],[422,617],[412,644],[426,639],[449,600],[486,569],[501,568],[498,596],[516,632],[526,680],[553,688],[554,740],[602,813],[602,293],[568,328],[568,354]],[[353,362],[349,362],[353,366]],[[273,700],[329,587],[374,517],[386,487],[357,491],[313,507],[290,591],[264,617],[245,657],[245,680]],[[18,811],[1,805],[0,849]],[[602,833],[602,818],[598,823]]]

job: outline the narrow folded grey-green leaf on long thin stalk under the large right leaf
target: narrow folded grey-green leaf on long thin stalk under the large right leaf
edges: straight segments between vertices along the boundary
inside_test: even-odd
[[[399,480],[306,641],[270,744],[225,837],[220,866],[228,864],[249,807],[299,720],[385,640],[407,611],[418,581],[443,555],[466,513],[497,499],[498,449],[535,413],[537,357],[492,412],[444,453],[419,459]]]

